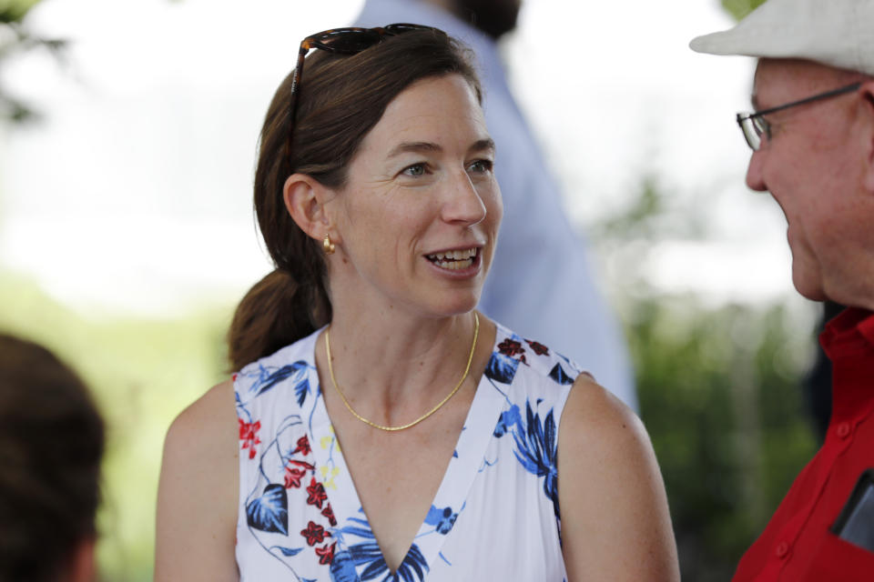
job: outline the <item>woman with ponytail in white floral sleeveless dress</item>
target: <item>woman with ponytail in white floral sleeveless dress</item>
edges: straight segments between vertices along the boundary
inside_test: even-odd
[[[239,373],[168,433],[158,580],[678,577],[640,422],[475,311],[502,214],[480,99],[434,29],[301,43],[255,178],[277,270]]]

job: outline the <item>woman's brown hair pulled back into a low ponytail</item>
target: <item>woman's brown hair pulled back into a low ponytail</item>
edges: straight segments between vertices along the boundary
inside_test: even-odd
[[[234,369],[330,322],[320,242],[289,215],[282,197],[285,180],[302,173],[341,188],[361,140],[391,100],[416,81],[451,74],[462,75],[482,101],[470,51],[439,30],[386,36],[357,55],[315,50],[295,96],[293,130],[293,72],[279,85],[261,129],[255,171],[255,212],[276,269],[249,290],[234,314],[228,335]]]

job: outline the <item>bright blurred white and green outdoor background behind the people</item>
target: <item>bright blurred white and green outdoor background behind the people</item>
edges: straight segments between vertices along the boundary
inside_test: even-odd
[[[819,438],[820,307],[743,184],[754,63],[687,47],[751,4],[524,0],[502,45],[625,325],[686,580],[730,577]],[[225,378],[232,310],[271,270],[250,202],[269,98],[360,7],[0,0],[0,328],[107,416],[104,580],[151,579],[164,434]]]

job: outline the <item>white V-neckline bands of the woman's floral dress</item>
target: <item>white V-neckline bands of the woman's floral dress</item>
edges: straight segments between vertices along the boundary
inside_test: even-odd
[[[502,337],[502,326],[496,326],[493,340],[493,354],[497,343]],[[340,444],[334,433],[333,426],[325,406],[324,395],[319,381],[318,369],[315,366],[316,347],[320,333],[314,334],[312,343],[313,366],[310,369],[310,386],[318,386],[315,398],[307,418],[312,452],[319,467],[320,482],[328,495],[333,515],[337,519],[335,537],[339,546],[349,548],[357,543],[373,543],[377,545],[379,558],[385,562],[382,548],[379,547],[373,535],[370,521],[364,514],[361,497],[352,480],[346,459],[340,451]],[[491,356],[490,356],[491,357]],[[456,517],[462,511],[473,480],[483,464],[486,447],[493,436],[494,426],[498,421],[504,404],[500,392],[490,389],[488,378],[483,373],[476,386],[473,401],[464,419],[462,431],[455,443],[452,457],[443,473],[440,486],[432,499],[428,513],[424,517],[416,535],[412,538],[410,547],[401,561],[400,566],[392,576],[405,565],[422,570],[429,570],[430,565],[440,556],[443,541],[452,532]],[[339,548],[338,548],[339,549]],[[373,553],[372,548],[370,551]],[[422,564],[422,560],[424,564]],[[426,575],[422,574],[422,580]]]

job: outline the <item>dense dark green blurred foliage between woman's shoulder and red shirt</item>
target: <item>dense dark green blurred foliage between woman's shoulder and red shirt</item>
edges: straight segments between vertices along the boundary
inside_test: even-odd
[[[627,324],[683,577],[727,580],[815,452],[795,356],[809,338],[784,306],[694,296],[639,301]]]

